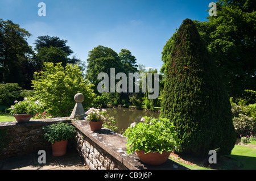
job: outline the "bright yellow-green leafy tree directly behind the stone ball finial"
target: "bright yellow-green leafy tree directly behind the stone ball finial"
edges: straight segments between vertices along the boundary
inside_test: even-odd
[[[85,108],[92,106],[95,98],[93,85],[82,77],[77,64],[67,64],[63,68],[61,63],[55,66],[52,62],[44,62],[44,71],[36,72],[34,77],[33,99],[43,102],[51,115],[70,116],[75,106],[74,96],[77,93],[84,94],[86,101],[82,105]]]

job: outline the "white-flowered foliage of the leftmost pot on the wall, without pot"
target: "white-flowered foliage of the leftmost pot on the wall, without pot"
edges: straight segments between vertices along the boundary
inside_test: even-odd
[[[24,98],[23,101],[18,102],[18,100],[15,100],[14,106],[11,106],[9,108],[10,113],[13,114],[30,114],[35,115],[36,113],[42,111],[42,104],[36,100],[35,102],[28,100],[27,98]]]

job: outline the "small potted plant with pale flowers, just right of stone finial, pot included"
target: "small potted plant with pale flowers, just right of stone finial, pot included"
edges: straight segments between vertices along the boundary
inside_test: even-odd
[[[106,110],[90,108],[85,112],[87,115],[84,119],[89,121],[91,131],[100,131],[104,120],[106,120]]]

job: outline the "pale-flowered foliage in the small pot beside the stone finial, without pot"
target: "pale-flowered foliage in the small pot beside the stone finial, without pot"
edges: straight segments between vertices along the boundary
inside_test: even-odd
[[[96,108],[90,108],[85,113],[87,115],[84,118],[85,120],[95,121],[95,122],[100,122],[100,121],[106,120],[106,110],[104,110],[104,109],[100,110],[100,109],[96,109]]]

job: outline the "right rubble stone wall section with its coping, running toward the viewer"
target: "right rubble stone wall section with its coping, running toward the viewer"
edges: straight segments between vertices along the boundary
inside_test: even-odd
[[[90,169],[186,169],[170,159],[163,165],[146,165],[139,161],[135,153],[127,155],[127,141],[121,134],[106,128],[102,128],[101,131],[98,132],[92,132],[90,131],[88,121],[85,120],[72,121],[72,124],[77,129],[76,150]]]

